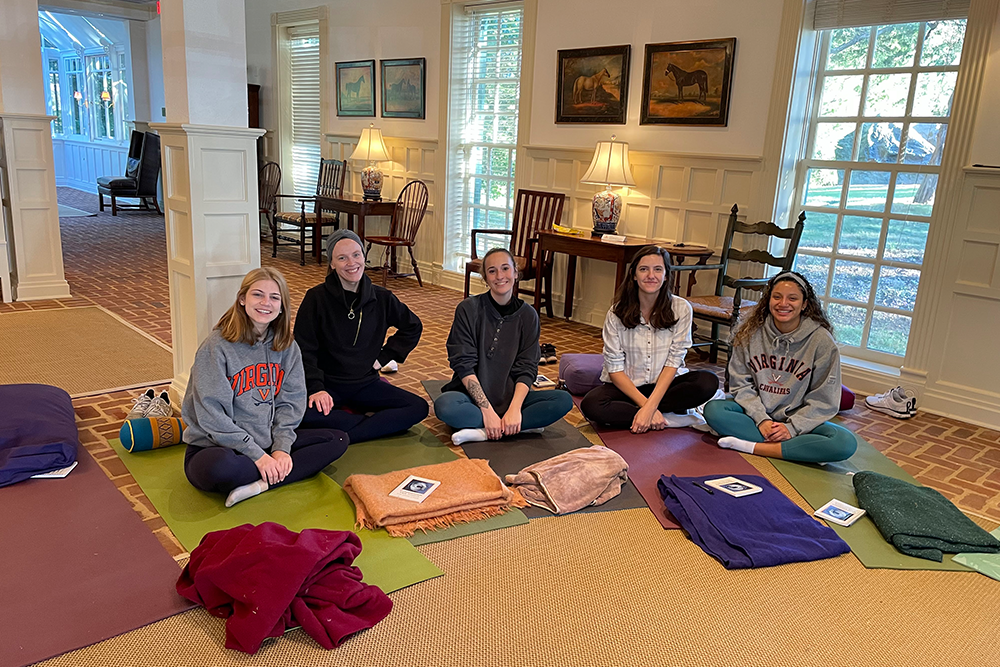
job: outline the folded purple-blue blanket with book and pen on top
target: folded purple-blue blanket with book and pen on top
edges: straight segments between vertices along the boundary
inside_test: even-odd
[[[661,475],[656,486],[663,503],[691,540],[726,569],[822,560],[851,550],[835,532],[802,511],[763,477],[740,477],[763,489],[742,498],[718,490],[709,494],[694,484],[704,486],[705,480],[722,476]]]

